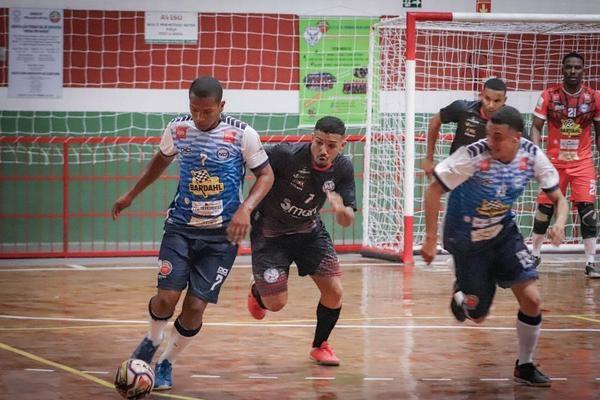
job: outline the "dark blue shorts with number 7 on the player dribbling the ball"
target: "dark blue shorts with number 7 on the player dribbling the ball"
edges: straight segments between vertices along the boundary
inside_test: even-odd
[[[216,303],[237,255],[225,229],[186,229],[165,225],[158,254],[160,289],[188,292]]]

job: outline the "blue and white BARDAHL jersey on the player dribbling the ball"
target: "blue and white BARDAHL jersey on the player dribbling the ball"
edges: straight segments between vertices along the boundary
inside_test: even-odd
[[[257,170],[268,163],[258,133],[224,114],[209,132],[199,130],[190,115],[173,119],[160,151],[179,156],[179,184],[166,221],[179,226],[227,226],[242,201],[245,166]]]

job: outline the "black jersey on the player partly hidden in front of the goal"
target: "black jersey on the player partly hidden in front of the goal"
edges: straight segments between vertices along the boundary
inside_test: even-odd
[[[481,115],[481,101],[456,100],[440,110],[442,123],[456,122],[456,133],[450,154],[459,147],[474,143],[486,136],[487,119]]]

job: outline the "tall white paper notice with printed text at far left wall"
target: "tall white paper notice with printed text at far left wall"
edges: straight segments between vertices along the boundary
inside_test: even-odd
[[[63,21],[62,9],[10,9],[8,97],[62,97]]]

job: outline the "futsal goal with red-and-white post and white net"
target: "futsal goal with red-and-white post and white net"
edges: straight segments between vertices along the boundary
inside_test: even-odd
[[[541,91],[562,82],[565,54],[582,54],[584,83],[600,89],[600,16],[408,13],[406,18],[382,21],[371,33],[363,252],[410,262],[425,234],[428,181],[420,161],[429,118],[454,100],[477,99],[483,83],[497,77],[506,82],[507,103],[523,113],[529,132]],[[455,128],[442,127],[437,162],[448,155]],[[598,152],[594,155],[598,165]],[[526,238],[537,190],[530,185],[514,205]],[[580,246],[575,209],[566,235],[567,249]]]

